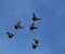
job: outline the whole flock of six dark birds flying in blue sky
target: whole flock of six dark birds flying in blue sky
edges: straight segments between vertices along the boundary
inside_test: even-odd
[[[35,13],[32,13],[32,24],[29,26],[30,30],[37,29],[38,27],[35,26],[35,22],[36,21],[40,21],[40,18],[38,18]],[[21,22],[17,22],[16,25],[14,25],[14,29],[23,29],[24,27],[21,25]],[[6,32],[9,38],[13,38],[13,36],[15,36],[12,32]],[[39,40],[38,39],[34,39],[34,42],[31,43],[31,48],[36,49],[39,44]]]

